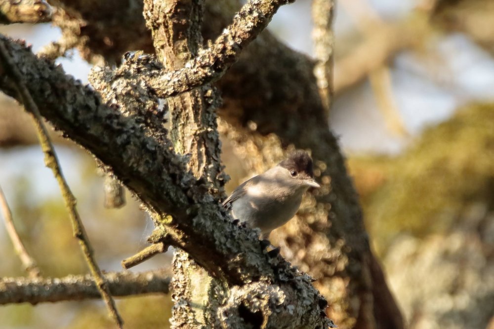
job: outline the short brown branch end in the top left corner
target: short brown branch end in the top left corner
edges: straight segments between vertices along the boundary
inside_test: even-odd
[[[48,22],[51,12],[45,0],[1,0],[0,24]]]

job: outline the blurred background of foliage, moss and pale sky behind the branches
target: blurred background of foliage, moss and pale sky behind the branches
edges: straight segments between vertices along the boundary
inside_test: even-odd
[[[310,2],[282,7],[270,25],[308,55]],[[371,244],[409,327],[492,329],[494,4],[340,0],[336,12],[336,96],[329,125],[340,136]],[[49,24],[0,30],[26,38],[35,51],[60,35]],[[359,53],[361,48],[367,50]],[[363,79],[351,80],[359,65],[378,59]],[[77,51],[58,62],[87,81],[90,66]],[[0,184],[21,238],[44,276],[86,273],[58,188],[33,145],[29,118],[4,97],[0,104]],[[105,209],[94,159],[57,141],[97,260],[106,271],[120,270],[121,259],[146,245],[152,224],[130,195],[122,209]],[[245,170],[227,141],[224,146],[231,190]],[[166,267],[170,257],[132,270]],[[1,225],[0,259],[0,276],[25,275]],[[123,298],[118,307],[127,328],[169,327],[168,296]],[[101,301],[2,306],[0,319],[0,328],[12,329],[113,328]]]

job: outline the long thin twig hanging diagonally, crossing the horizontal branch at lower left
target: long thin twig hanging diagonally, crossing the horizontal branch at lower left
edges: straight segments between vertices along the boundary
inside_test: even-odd
[[[69,218],[72,222],[74,237],[77,238],[79,241],[82,253],[86,259],[87,265],[89,266],[89,270],[94,277],[96,286],[98,287],[98,290],[101,293],[101,297],[105,301],[107,308],[111,316],[117,323],[118,327],[123,328],[124,322],[117,311],[115,300],[110,295],[110,290],[108,289],[108,285],[106,284],[103,274],[101,273],[101,270],[99,269],[99,266],[94,259],[94,251],[91,244],[89,243],[89,238],[87,237],[84,226],[82,225],[81,218],[79,217],[79,213],[76,209],[76,198],[74,194],[72,194],[72,191],[70,190],[69,185],[65,181],[65,178],[62,174],[62,169],[58,162],[58,158],[56,156],[53,145],[51,144],[48,132],[43,124],[38,106],[31,97],[29,90],[24,85],[22,75],[11,60],[10,55],[3,42],[0,42],[0,57],[3,70],[10,75],[10,78],[14,82],[15,88],[19,93],[24,107],[26,108],[26,110],[33,114],[33,117],[35,119],[34,121],[36,125],[36,132],[40,140],[41,149],[44,153],[44,163],[46,167],[50,168],[53,171],[53,175],[55,176],[58,185],[60,186],[62,197],[65,200],[65,205],[67,207],[67,210],[69,211]]]

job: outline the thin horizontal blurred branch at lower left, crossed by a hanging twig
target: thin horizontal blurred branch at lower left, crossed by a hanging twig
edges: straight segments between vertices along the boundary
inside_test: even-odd
[[[167,271],[142,273],[105,273],[105,281],[114,296],[124,297],[144,293],[168,293],[170,277]],[[57,302],[100,298],[101,293],[91,275],[69,275],[63,278],[2,278],[0,305],[11,303]]]

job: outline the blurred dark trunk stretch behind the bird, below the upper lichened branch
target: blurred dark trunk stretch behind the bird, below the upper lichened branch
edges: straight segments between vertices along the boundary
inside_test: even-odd
[[[219,81],[220,89],[237,96],[232,101],[225,99],[220,110],[227,124],[221,132],[235,143],[234,150],[249,175],[275,164],[283,157],[285,146],[294,145],[312,150],[319,167],[318,180],[324,184],[314,192],[315,200],[299,211],[301,216],[279,230],[283,239],[273,236],[273,241],[285,246],[282,251],[290,261],[318,278],[316,284],[329,298],[329,314],[338,318],[338,326],[402,328],[396,302],[369,248],[357,193],[337,140],[329,131],[312,63],[296,54],[281,55],[278,48],[259,47],[260,42],[266,42],[266,36],[246,49],[262,54],[263,60],[256,65],[270,68],[273,62],[284,61],[283,66],[298,70],[274,73],[254,70],[253,63],[244,61],[234,65]],[[243,74],[236,74],[237,70]],[[251,79],[246,72],[258,75]],[[299,86],[300,80],[310,82]],[[252,81],[262,81],[262,87]],[[285,88],[276,87],[280,84]],[[263,92],[257,92],[259,89]],[[247,98],[249,102],[241,101]],[[269,111],[264,110],[266,104],[272,105]],[[387,316],[380,317],[380,312]],[[376,323],[376,319],[382,322]]]

